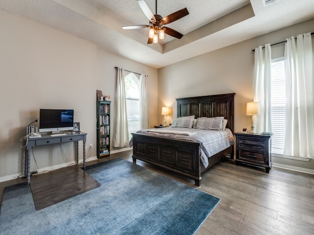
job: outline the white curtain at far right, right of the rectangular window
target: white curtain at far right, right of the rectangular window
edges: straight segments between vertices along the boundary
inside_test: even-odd
[[[314,159],[314,77],[311,33],[285,44],[286,138],[284,154]]]

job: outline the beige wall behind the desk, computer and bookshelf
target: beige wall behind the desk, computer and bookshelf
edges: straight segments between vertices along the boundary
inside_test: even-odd
[[[157,123],[157,70],[108,53],[86,40],[0,10],[0,179],[22,172],[20,138],[40,108],[74,109],[96,156],[96,90],[114,105],[115,66],[149,75],[149,119]],[[114,117],[112,117],[112,120]],[[37,124],[38,123],[34,123]],[[111,127],[114,128],[113,126]],[[112,130],[111,129],[111,130]],[[82,143],[79,143],[82,158]],[[39,168],[74,161],[74,144],[32,150]],[[36,165],[31,154],[31,170]]]

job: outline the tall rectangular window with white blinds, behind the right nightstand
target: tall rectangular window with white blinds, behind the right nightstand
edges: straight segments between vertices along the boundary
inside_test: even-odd
[[[284,154],[286,123],[286,76],[284,58],[271,63],[272,153]]]

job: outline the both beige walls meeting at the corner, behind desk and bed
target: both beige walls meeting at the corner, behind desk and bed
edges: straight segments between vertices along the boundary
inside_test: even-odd
[[[245,115],[245,105],[253,100],[254,53],[251,50],[314,31],[314,20],[311,20],[157,71],[6,11],[0,10],[0,22],[0,179],[4,180],[22,172],[24,149],[20,138],[25,135],[26,125],[39,118],[40,108],[74,109],[75,121],[88,133],[87,145],[93,143],[90,156],[96,156],[96,90],[110,94],[114,106],[115,66],[149,75],[151,127],[163,123],[161,107],[164,105],[173,108],[167,123],[176,117],[175,98],[233,92],[236,93],[235,131],[250,127],[251,118]],[[282,48],[272,49],[278,55],[283,53]],[[38,167],[49,168],[74,161],[73,143],[61,147],[34,148],[32,153]],[[82,143],[80,158],[81,147]],[[36,168],[32,156],[31,170]],[[273,158],[273,162],[314,169],[314,161]]]

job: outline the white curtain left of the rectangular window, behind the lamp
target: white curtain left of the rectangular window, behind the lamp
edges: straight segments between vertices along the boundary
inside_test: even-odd
[[[260,104],[260,115],[255,116],[255,132],[271,131],[271,47],[270,44],[255,48],[254,101]]]

